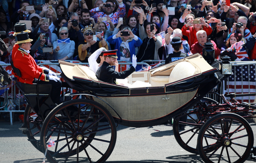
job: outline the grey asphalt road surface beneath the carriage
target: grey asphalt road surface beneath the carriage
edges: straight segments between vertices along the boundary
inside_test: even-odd
[[[0,121],[0,163],[41,163],[44,154],[18,129],[22,123]],[[256,133],[256,124],[250,124]],[[256,145],[254,140],[254,146]],[[176,142],[172,125],[132,128],[119,125],[114,151],[107,163],[200,163],[199,155],[185,151]],[[247,159],[246,163],[255,160]]]

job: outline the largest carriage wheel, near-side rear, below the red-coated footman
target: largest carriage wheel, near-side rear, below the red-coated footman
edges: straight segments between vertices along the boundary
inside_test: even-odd
[[[114,149],[116,126],[101,104],[87,99],[71,100],[54,108],[46,117],[40,135],[42,152],[50,139],[55,139],[55,146],[49,148],[53,152],[47,150],[46,155],[51,163],[79,159],[104,162]],[[58,154],[63,158],[57,158]]]

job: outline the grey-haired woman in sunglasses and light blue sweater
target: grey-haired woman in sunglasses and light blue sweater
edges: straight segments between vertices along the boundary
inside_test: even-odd
[[[67,27],[61,27],[59,30],[60,39],[67,39],[68,38],[68,28]],[[73,55],[75,52],[75,42],[72,40],[69,40],[70,43],[58,43],[58,41],[55,41],[53,43],[53,49],[54,49],[54,59],[55,60],[73,60]]]

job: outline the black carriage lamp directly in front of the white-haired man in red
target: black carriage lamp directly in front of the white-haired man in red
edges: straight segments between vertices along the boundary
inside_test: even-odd
[[[215,50],[211,42],[206,42],[202,50],[203,58],[211,65],[215,59]]]

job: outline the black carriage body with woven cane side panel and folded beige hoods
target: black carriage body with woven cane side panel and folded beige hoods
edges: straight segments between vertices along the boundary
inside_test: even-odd
[[[196,58],[200,62],[206,62],[200,57],[199,54],[195,54],[185,59],[193,60]],[[166,74],[165,71],[169,71],[168,67],[174,67],[180,61],[181,60],[178,60],[159,66],[146,72],[134,72],[132,75],[137,75],[139,76],[138,78],[141,79],[143,75],[145,77],[159,72],[159,74]],[[200,64],[201,63],[198,63],[198,65]],[[205,66],[205,63],[203,63],[203,65]],[[219,62],[215,61],[215,67],[208,64],[207,71],[164,84],[163,86],[128,88],[96,81],[90,77],[77,77],[73,76],[73,74],[71,77],[71,74],[65,71],[67,67],[64,67],[72,67],[74,65],[60,62],[60,67],[63,72],[61,76],[67,81],[71,88],[97,96],[98,98],[92,97],[94,101],[102,104],[120,124],[129,127],[159,125],[187,111],[216,85],[227,78],[227,76],[219,72],[219,65]],[[85,68],[85,66],[83,68]],[[68,69],[70,69],[70,67]],[[128,80],[130,80],[129,77]],[[148,80],[149,79],[144,79],[146,82]]]

